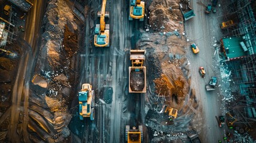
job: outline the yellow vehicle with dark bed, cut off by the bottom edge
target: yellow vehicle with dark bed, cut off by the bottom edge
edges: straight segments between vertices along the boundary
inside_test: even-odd
[[[132,127],[130,129],[129,125],[125,126],[125,141],[128,143],[140,143],[143,142],[143,126]]]

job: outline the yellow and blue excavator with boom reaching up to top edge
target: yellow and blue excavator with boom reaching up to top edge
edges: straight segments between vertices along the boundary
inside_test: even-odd
[[[105,11],[107,0],[102,1],[101,11],[97,16],[100,17],[100,24],[96,24],[94,31],[94,45],[99,47],[109,46],[109,24],[105,23],[105,17],[109,18],[109,12]]]

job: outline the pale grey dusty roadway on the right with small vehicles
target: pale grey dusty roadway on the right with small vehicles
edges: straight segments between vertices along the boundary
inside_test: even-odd
[[[202,1],[201,1],[202,2]],[[217,54],[214,55],[215,41],[221,38],[220,18],[221,13],[205,14],[205,7],[199,2],[191,1],[192,8],[196,16],[186,21],[185,32],[190,41],[198,44],[200,52],[195,55],[192,49],[188,49],[188,60],[191,64],[192,88],[196,91],[199,104],[202,107],[202,117],[204,123],[201,129],[196,129],[203,142],[217,142],[224,136],[224,128],[218,127],[217,118],[223,114],[221,97],[218,95],[219,88],[215,91],[205,90],[205,84],[209,82],[211,76],[217,76],[220,83],[220,71],[216,68]],[[203,2],[207,5],[207,2]],[[198,69],[203,66],[206,70],[205,79],[199,76]],[[217,83],[217,84],[218,84]]]

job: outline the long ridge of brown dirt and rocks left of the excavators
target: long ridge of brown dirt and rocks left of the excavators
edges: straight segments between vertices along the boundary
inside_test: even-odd
[[[54,115],[51,118],[53,122],[49,124],[54,126],[57,133],[49,136],[55,142],[63,142],[70,135],[67,125],[72,116],[66,101],[70,94],[70,74],[73,71],[72,63],[75,62],[73,57],[78,52],[78,24],[66,2],[55,0],[48,3],[43,21],[44,33],[33,81],[37,86],[33,86],[33,91],[45,100],[49,107],[45,110]]]

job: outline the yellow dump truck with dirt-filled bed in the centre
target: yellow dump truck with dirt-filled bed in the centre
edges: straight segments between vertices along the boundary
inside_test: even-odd
[[[129,67],[129,93],[146,93],[145,50],[131,49]]]

